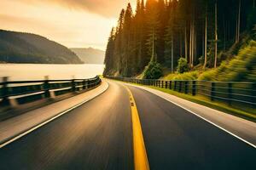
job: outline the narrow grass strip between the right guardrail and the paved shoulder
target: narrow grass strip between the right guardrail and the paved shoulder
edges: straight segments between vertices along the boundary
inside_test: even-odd
[[[121,81],[118,81],[118,82],[121,82]],[[222,102],[218,102],[218,101],[213,102],[210,99],[208,99],[207,97],[200,96],[200,95],[192,96],[192,95],[189,95],[189,94],[182,94],[182,93],[179,93],[179,92],[176,92],[176,91],[173,91],[173,90],[170,90],[170,89],[166,89],[166,88],[156,88],[156,87],[153,87],[153,86],[145,86],[145,85],[140,85],[140,84],[136,84],[136,83],[130,83],[130,84],[160,90],[161,92],[164,92],[166,94],[172,94],[172,95],[177,96],[181,99],[186,99],[186,100],[189,100],[189,101],[194,102],[194,103],[199,104],[199,105],[205,105],[205,106],[207,106],[209,108],[212,108],[212,109],[215,109],[217,111],[223,111],[223,112],[228,113],[230,115],[239,116],[241,118],[247,119],[248,121],[256,122],[256,110],[253,109],[253,108],[248,108],[248,107],[245,107],[245,106],[241,106],[240,108],[244,109],[244,111],[241,111],[238,108],[235,108],[235,107],[230,106],[230,105],[226,105]],[[237,107],[239,107],[239,105],[237,105]]]

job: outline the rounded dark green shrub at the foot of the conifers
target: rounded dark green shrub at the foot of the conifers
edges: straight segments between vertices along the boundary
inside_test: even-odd
[[[152,61],[146,67],[144,71],[144,79],[159,79],[163,76],[161,65],[155,61]]]

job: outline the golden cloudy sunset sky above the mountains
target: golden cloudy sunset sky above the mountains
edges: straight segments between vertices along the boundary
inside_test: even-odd
[[[0,0],[0,29],[35,33],[67,48],[105,50],[127,3],[136,0]]]

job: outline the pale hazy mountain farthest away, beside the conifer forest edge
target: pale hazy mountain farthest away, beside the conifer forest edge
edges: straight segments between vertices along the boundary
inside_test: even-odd
[[[103,64],[105,52],[96,48],[70,48],[86,64]]]

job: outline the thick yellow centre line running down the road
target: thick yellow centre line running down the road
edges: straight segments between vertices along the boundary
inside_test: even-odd
[[[143,130],[138,116],[137,106],[131,94],[131,90],[125,87],[129,93],[131,103],[131,120],[133,133],[133,155],[135,170],[149,170],[148,156],[143,139]]]

